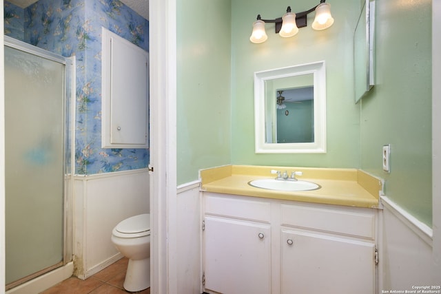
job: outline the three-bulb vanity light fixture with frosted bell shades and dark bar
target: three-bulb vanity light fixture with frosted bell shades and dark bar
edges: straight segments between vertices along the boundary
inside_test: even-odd
[[[307,26],[307,15],[313,11],[316,12],[316,17],[311,25],[312,28],[314,30],[329,28],[334,23],[334,19],[331,16],[331,5],[325,3],[325,1],[320,0],[320,4],[317,6],[298,13],[291,12],[291,7],[288,6],[287,13],[277,19],[261,19],[260,14],[258,14],[257,20],[253,23],[253,32],[249,37],[249,41],[256,44],[267,41],[268,36],[265,32],[265,23],[275,23],[276,33],[284,38],[294,36],[298,32],[298,28]]]

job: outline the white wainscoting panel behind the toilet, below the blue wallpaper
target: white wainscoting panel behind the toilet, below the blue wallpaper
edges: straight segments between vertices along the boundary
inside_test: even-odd
[[[86,279],[122,258],[112,229],[150,212],[149,177],[148,169],[74,176],[74,275]]]

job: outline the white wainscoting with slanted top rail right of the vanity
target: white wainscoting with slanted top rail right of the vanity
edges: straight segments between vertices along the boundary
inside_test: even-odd
[[[413,286],[438,285],[431,274],[432,230],[387,197],[381,198],[382,235],[380,285],[382,291],[411,291]],[[433,284],[437,282],[438,284]]]

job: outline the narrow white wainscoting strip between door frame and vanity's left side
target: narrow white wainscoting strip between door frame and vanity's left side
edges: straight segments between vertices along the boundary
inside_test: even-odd
[[[202,293],[202,213],[199,181],[177,187],[177,271],[180,294]]]

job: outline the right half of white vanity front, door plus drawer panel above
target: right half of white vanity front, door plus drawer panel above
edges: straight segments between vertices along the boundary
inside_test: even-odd
[[[281,293],[375,293],[373,209],[280,205]]]

